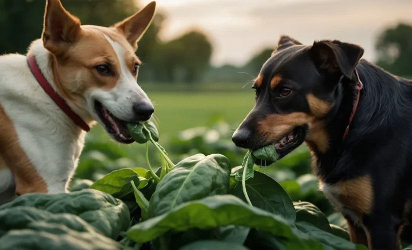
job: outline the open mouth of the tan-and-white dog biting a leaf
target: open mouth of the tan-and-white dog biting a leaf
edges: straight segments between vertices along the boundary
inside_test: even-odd
[[[127,130],[126,121],[114,116],[98,100],[95,100],[95,111],[102,121],[102,125],[106,129],[107,133],[111,135],[115,140],[125,144],[129,144],[135,141]]]

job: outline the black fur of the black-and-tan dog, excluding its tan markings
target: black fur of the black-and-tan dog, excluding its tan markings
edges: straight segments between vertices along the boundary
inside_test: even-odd
[[[361,221],[373,249],[397,249],[397,230],[405,221],[412,222],[410,211],[404,215],[406,202],[412,202],[412,81],[360,59],[363,49],[354,44],[322,40],[302,45],[287,36],[279,42],[261,69],[256,105],[238,128],[248,136],[242,141],[235,133],[234,142],[245,148],[274,143],[256,130],[257,122],[272,113],[309,113],[308,93],[332,103],[322,117],[329,147],[324,153],[314,151],[315,174],[330,184],[369,175],[372,211],[363,214]],[[363,89],[342,141],[355,100],[355,69]],[[279,87],[293,89],[290,96],[278,98],[278,88],[270,89],[275,74],[282,76]],[[410,230],[406,228],[402,238],[412,241]]]

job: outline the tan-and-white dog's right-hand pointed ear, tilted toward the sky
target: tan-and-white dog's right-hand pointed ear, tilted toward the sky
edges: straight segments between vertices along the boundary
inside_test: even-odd
[[[137,49],[137,42],[142,38],[143,34],[152,22],[153,16],[155,15],[155,10],[156,2],[152,1],[134,15],[129,16],[113,26],[121,31],[126,36],[130,44]]]

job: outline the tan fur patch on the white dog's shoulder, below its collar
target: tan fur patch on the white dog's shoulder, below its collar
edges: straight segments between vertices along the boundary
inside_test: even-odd
[[[12,120],[0,105],[0,168],[9,168],[16,180],[18,194],[47,192],[47,185],[37,173],[26,153],[19,145],[19,138]],[[1,164],[3,163],[3,164]],[[6,163],[6,165],[4,165]]]

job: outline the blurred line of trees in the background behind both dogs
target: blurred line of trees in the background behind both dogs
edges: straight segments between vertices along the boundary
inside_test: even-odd
[[[65,8],[82,24],[110,26],[136,12],[136,0],[62,0]],[[26,53],[30,42],[42,33],[45,0],[0,0],[1,53]],[[157,14],[138,44],[143,61],[140,81],[196,82],[247,81],[257,74],[273,48],[265,48],[241,67],[210,65],[213,46],[201,30],[164,41],[159,37],[167,16]],[[275,44],[273,45],[273,47]],[[376,63],[395,74],[412,76],[412,26],[399,23],[385,29],[376,40]],[[245,73],[239,73],[245,72]]]

